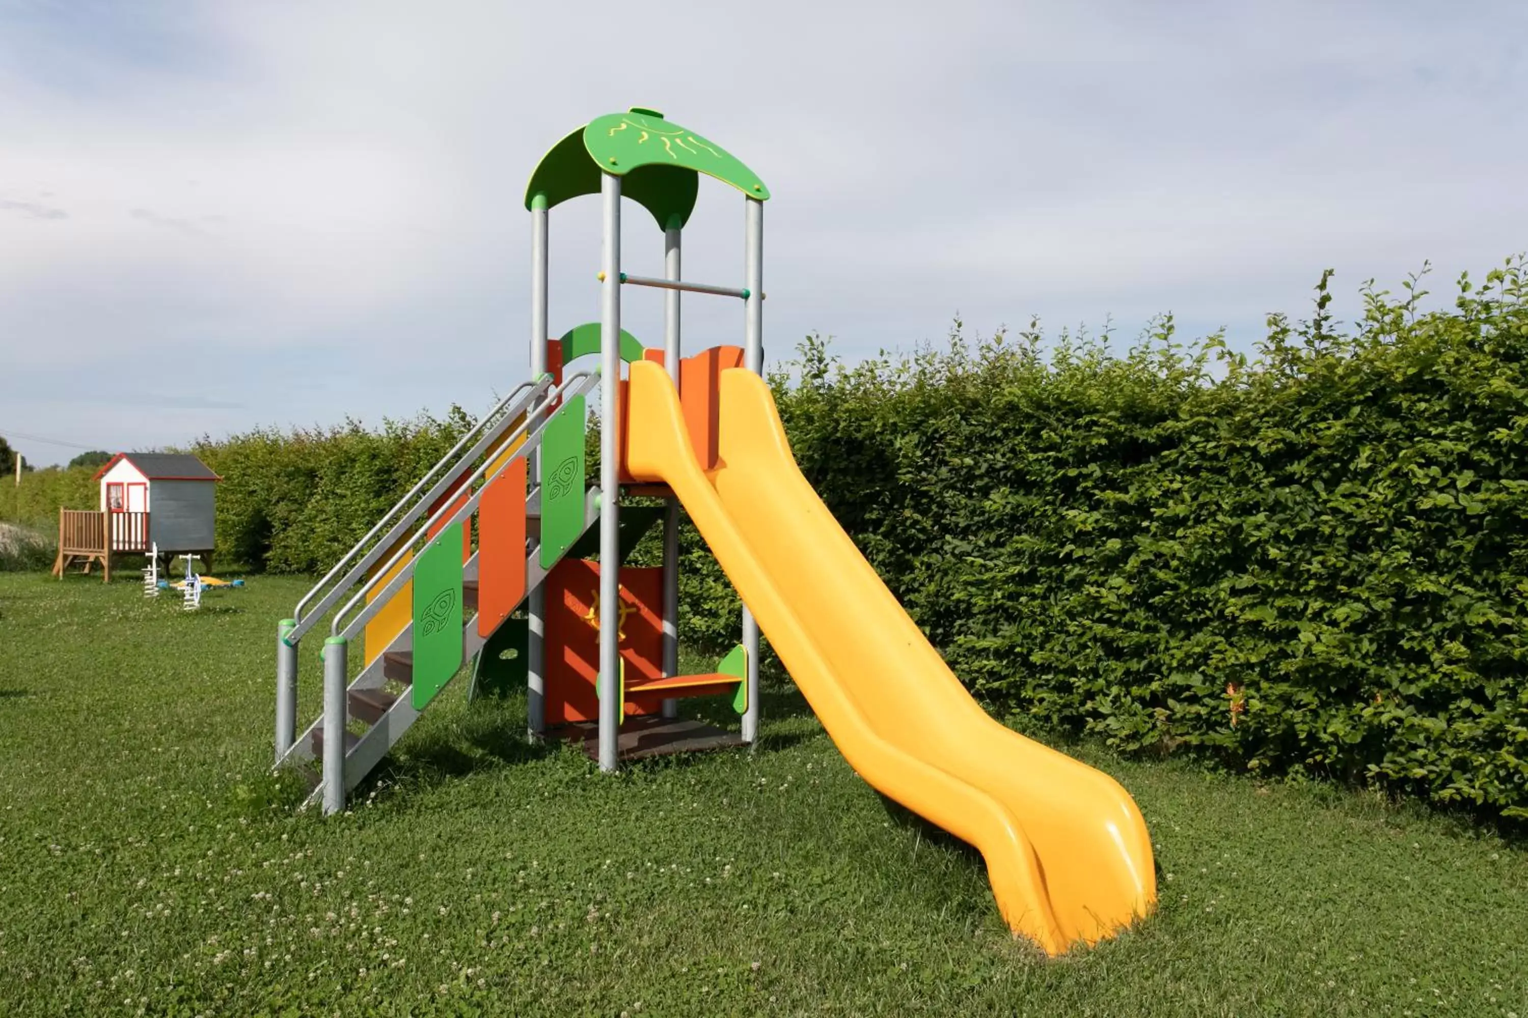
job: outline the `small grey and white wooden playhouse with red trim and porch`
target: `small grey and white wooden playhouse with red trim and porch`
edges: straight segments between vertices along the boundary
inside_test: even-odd
[[[96,472],[96,510],[58,510],[58,559],[53,574],[83,563],[101,563],[112,578],[112,556],[148,554],[157,548],[163,565],[196,554],[203,568],[212,560],[215,484],[222,481],[188,453],[119,452]]]

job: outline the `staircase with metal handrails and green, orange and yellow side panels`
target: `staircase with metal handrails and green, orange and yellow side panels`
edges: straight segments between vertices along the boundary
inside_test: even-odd
[[[535,481],[527,491],[524,481],[536,478],[533,467],[544,450],[553,455],[553,467],[565,462],[564,453],[575,438],[575,473],[582,478],[584,397],[597,383],[596,372],[578,372],[561,385],[542,375],[515,389],[298,601],[292,618],[280,623],[275,766],[290,768],[307,780],[309,803],[321,801],[324,812],[344,809],[348,792],[599,517],[599,488],[587,487],[582,479],[568,484],[567,470],[549,469],[553,490],[545,493]],[[549,433],[556,437],[552,443]],[[501,487],[484,501],[495,484]],[[513,519],[516,514],[523,520]],[[549,514],[555,519],[544,520]],[[460,537],[474,531],[475,542]],[[500,534],[510,534],[507,543]],[[513,560],[518,554],[524,562]],[[425,566],[429,574],[416,585],[422,563],[429,563]],[[431,588],[428,604],[422,606],[420,585],[429,585],[442,566],[448,580],[439,594]],[[350,643],[394,601],[410,598],[410,589],[413,618],[380,653],[368,647],[370,661],[351,678]],[[460,594],[458,601],[448,594]],[[486,600],[492,600],[492,615],[480,618]],[[460,614],[460,658],[452,656],[454,644],[442,658],[442,643],[449,639],[431,629],[440,606],[446,606],[452,629]],[[422,653],[426,661],[416,662],[414,629],[420,620],[429,650]],[[298,652],[304,635],[315,633],[325,621],[324,711],[298,734]],[[422,678],[417,665],[428,670],[428,681],[416,682]]]

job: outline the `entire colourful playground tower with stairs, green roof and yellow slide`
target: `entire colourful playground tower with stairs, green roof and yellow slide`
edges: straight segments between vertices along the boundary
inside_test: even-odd
[[[741,287],[680,275],[701,174],[744,195]],[[601,321],[550,339],[549,212],[596,192]],[[662,279],[620,269],[623,197],[663,232]],[[750,745],[762,626],[854,769],[983,853],[1012,929],[1051,954],[1108,937],[1155,902],[1135,803],[1108,775],[981,710],[792,458],[761,377],[769,197],[738,159],[652,110],[597,118],[547,153],[526,194],[532,380],[463,435],[278,624],[277,766],[306,774],[310,801],[325,812],[342,810],[469,659],[477,684],[524,682],[532,737],[585,740],[602,771],[654,749]],[[622,290],[633,285],[665,292],[662,350],[620,327]],[[685,357],[683,293],[740,301],[744,345]],[[593,356],[596,366],[579,366]],[[596,386],[605,426],[590,484],[587,401]],[[622,505],[628,496],[663,505]],[[680,507],[747,604],[743,644],[703,675],[677,668]],[[625,565],[659,522],[663,565]],[[597,562],[588,560],[594,552]],[[325,621],[322,713],[299,733],[301,641]],[[351,678],[358,636],[365,656]],[[677,702],[689,696],[729,696],[741,731],[680,719]]]

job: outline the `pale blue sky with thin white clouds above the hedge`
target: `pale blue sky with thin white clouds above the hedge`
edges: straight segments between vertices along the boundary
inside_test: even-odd
[[[769,183],[769,362],[957,314],[1251,351],[1326,267],[1340,317],[1424,261],[1444,302],[1528,249],[1525,46],[1520,0],[0,0],[0,435],[481,412],[529,368],[526,180],[633,105]],[[597,217],[552,212],[553,334],[599,317]],[[703,182],[685,276],[741,273]],[[659,292],[623,316],[660,345]],[[688,296],[685,333],[741,345],[741,305]]]

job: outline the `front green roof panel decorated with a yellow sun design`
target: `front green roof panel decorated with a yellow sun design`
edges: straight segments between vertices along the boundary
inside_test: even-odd
[[[769,188],[736,156],[651,111],[631,110],[591,121],[584,128],[584,147],[599,169],[613,174],[626,176],[643,166],[678,166],[715,177],[750,198],[769,198]]]

